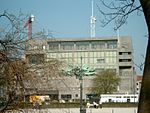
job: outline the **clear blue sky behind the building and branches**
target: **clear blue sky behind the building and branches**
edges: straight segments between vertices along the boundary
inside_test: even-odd
[[[117,36],[113,30],[114,24],[105,28],[99,22],[100,14],[96,5],[99,0],[94,0],[94,15],[97,17],[96,36]],[[35,21],[33,29],[40,31],[45,29],[52,32],[56,38],[90,37],[91,0],[0,0],[0,13],[7,10],[18,14],[21,10],[24,14],[33,14]],[[120,28],[120,36],[131,36],[134,48],[134,62],[143,62],[147,46],[147,27],[143,17],[132,14],[127,24]],[[137,69],[137,67],[135,66]],[[142,71],[137,69],[137,74]]]

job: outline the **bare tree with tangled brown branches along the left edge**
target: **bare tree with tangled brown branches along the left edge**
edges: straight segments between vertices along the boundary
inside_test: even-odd
[[[34,84],[37,79],[30,75],[37,74],[38,69],[31,70],[34,66],[29,65],[25,59],[26,49],[32,43],[27,38],[25,21],[26,17],[22,13],[13,15],[4,11],[0,14],[0,90],[3,92],[1,98],[5,99],[5,106],[1,111],[17,100],[22,101],[31,86],[36,91]],[[38,39],[45,37],[41,32],[33,36]],[[43,59],[39,59],[39,62],[43,62]]]

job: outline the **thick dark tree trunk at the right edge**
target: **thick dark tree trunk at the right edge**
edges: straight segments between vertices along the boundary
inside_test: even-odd
[[[150,34],[150,0],[140,0],[145,20]],[[145,59],[145,67],[143,73],[142,87],[140,92],[140,100],[138,105],[138,113],[150,113],[150,40],[148,37],[148,45]]]

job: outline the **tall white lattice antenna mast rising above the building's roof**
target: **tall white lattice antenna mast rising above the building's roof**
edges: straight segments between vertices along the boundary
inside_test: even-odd
[[[92,3],[92,16],[91,16],[91,38],[95,37],[95,26],[96,26],[96,16],[93,15],[94,10],[93,10],[93,0],[91,1]]]

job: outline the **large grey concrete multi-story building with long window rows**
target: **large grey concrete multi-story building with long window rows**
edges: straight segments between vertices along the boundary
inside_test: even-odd
[[[40,51],[35,52],[35,49]],[[30,51],[30,49],[32,49]],[[34,50],[34,55],[33,54]],[[38,54],[38,55],[37,55]],[[45,39],[31,44],[26,52],[30,64],[39,62],[39,59],[58,59],[69,65],[88,65],[96,71],[112,69],[120,76],[121,82],[118,93],[134,93],[133,47],[131,37],[97,37],[97,38],[59,38]],[[94,76],[83,77],[83,98],[90,92]],[[63,77],[63,82],[57,86],[58,98],[79,99],[79,80],[75,77]],[[64,84],[64,85],[63,85]]]

